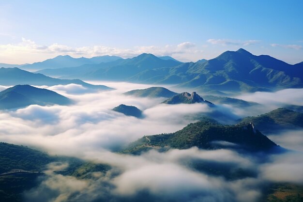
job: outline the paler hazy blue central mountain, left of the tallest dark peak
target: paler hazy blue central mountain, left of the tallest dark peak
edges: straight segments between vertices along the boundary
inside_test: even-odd
[[[155,68],[173,67],[182,64],[175,60],[163,60],[152,54],[143,53],[137,57],[125,60],[116,60],[100,64],[84,64],[77,67],[46,69],[38,71],[49,76],[62,76],[62,78],[81,78],[92,80],[128,80],[133,76]],[[149,75],[148,77],[152,77]]]

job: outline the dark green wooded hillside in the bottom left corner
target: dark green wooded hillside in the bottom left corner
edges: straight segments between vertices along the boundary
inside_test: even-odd
[[[50,156],[45,152],[0,142],[0,201],[22,202],[23,192],[39,186],[47,164],[61,162],[69,167],[56,171],[76,178],[91,178],[93,172],[106,172],[108,165],[84,162],[78,158]],[[15,171],[17,170],[17,171]],[[22,172],[19,172],[23,170]],[[26,172],[31,171],[31,172]],[[40,179],[40,180],[39,180]]]

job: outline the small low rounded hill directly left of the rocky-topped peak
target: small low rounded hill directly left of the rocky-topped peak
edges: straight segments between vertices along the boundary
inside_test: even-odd
[[[123,94],[137,97],[172,97],[177,93],[169,91],[163,87],[151,87],[147,89],[132,90]]]

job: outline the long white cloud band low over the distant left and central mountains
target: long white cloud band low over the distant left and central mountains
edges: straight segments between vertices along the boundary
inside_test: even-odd
[[[179,45],[137,46],[133,48],[105,47],[96,45],[91,47],[70,47],[61,44],[49,46],[39,45],[30,39],[22,38],[18,44],[0,45],[0,61],[4,63],[32,63],[39,62],[57,55],[71,55],[73,57],[93,57],[102,55],[116,55],[123,58],[135,57],[142,53],[152,53],[158,56],[173,56],[176,59],[196,61],[200,58],[201,50],[195,48],[195,44],[184,42]],[[18,60],[18,61],[17,61]]]

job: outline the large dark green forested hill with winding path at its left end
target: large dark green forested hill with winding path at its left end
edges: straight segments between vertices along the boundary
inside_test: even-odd
[[[149,142],[150,140],[150,142]],[[234,148],[246,151],[271,151],[279,148],[272,140],[255,130],[252,124],[221,125],[200,121],[169,134],[145,136],[133,142],[124,152],[138,153],[149,148],[188,149]]]

